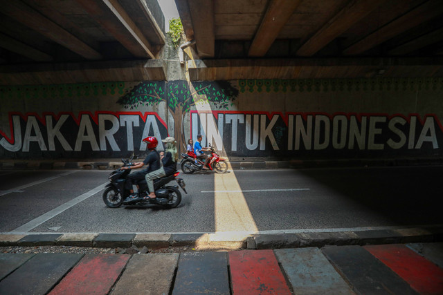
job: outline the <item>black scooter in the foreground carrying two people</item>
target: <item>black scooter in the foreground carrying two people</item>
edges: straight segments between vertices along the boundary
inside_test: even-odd
[[[122,159],[123,166],[132,166],[134,155],[129,159]],[[140,180],[138,184],[138,198],[129,202],[124,200],[131,194],[129,190],[125,189],[126,177],[130,173],[130,170],[116,169],[109,174],[109,184],[106,185],[105,191],[103,191],[103,202],[110,208],[118,208],[122,204],[124,205],[143,205],[143,204],[159,204],[167,209],[177,207],[181,202],[181,193],[179,187],[183,189],[185,193],[188,193],[185,189],[186,184],[182,178],[177,178],[178,171],[171,175],[163,176],[154,180],[154,189],[156,198],[144,199],[150,192],[147,188],[146,180]],[[167,186],[172,180],[177,181],[177,185]]]

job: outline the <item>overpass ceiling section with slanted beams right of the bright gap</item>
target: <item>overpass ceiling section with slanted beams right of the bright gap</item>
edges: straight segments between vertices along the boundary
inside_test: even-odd
[[[442,76],[441,0],[175,0],[192,79]]]

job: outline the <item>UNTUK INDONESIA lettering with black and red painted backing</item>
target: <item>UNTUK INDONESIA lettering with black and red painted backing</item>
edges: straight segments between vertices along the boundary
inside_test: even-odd
[[[443,144],[435,115],[192,111],[191,117],[192,138],[204,134],[202,143],[239,157],[441,155]]]

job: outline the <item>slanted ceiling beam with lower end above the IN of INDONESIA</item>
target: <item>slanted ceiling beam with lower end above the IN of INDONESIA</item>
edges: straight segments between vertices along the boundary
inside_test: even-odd
[[[352,0],[347,6],[330,19],[325,26],[320,28],[297,50],[297,55],[310,57],[321,48],[329,44],[339,35],[343,34],[354,23],[360,21],[372,10],[377,8],[382,0]]]

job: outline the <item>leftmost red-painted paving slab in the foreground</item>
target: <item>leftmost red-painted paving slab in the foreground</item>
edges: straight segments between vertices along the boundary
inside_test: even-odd
[[[49,294],[108,294],[130,257],[86,255]]]

